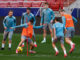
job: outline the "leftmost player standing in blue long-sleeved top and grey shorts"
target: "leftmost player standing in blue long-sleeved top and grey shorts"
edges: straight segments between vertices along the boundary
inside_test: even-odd
[[[5,42],[7,37],[9,38],[9,50],[11,49],[11,42],[12,42],[12,35],[14,29],[11,27],[16,26],[16,18],[13,16],[13,11],[10,10],[8,13],[8,16],[6,16],[3,20],[3,26],[4,26],[4,34],[3,34],[3,40],[2,40],[2,48],[1,50],[4,50],[5,48]]]

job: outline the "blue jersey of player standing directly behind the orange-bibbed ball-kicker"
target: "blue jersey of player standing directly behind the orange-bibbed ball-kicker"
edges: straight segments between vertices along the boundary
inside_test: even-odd
[[[36,24],[35,16],[32,13],[30,13],[29,15],[27,13],[23,13],[22,18],[21,18],[21,24],[28,23],[29,20],[31,20],[32,18],[34,20],[33,25],[35,25]]]

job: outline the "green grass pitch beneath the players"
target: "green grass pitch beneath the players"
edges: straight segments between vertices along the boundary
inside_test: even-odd
[[[4,51],[0,51],[0,60],[80,60],[80,36],[75,36],[72,40],[76,43],[75,51],[72,54],[69,54],[70,46],[65,43],[65,47],[67,49],[68,57],[64,58],[63,51],[60,47],[60,43],[58,42],[56,45],[60,51],[58,56],[54,56],[55,51],[52,48],[51,37],[47,35],[47,42],[45,44],[41,44],[43,39],[42,35],[36,35],[36,41],[38,47],[34,50],[37,52],[36,54],[29,54],[27,57],[27,49],[26,45],[23,48],[23,52],[20,54],[16,54],[15,50],[20,41],[20,34],[14,34],[12,39],[12,49],[8,50],[8,39],[6,41],[6,47]],[[0,34],[0,47],[3,39],[3,35]],[[26,44],[26,43],[25,43]]]

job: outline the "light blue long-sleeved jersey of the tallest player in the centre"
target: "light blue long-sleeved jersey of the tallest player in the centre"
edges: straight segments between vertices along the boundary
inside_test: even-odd
[[[52,11],[52,9],[48,8],[48,9],[44,9],[42,11],[42,16],[41,16],[41,23],[44,24],[49,24],[51,20],[55,19],[55,15],[54,12]]]

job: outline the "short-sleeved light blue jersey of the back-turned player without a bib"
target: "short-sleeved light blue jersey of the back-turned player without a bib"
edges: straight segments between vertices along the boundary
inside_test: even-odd
[[[56,22],[55,24],[53,24],[53,28],[55,28],[56,30],[57,37],[64,37],[65,26],[62,23]]]

